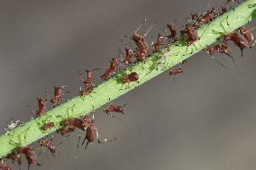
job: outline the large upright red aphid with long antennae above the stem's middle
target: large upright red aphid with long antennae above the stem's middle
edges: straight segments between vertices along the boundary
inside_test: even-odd
[[[149,46],[144,38],[137,32],[134,32],[132,40],[137,46],[136,58],[138,61],[143,61],[148,55]]]

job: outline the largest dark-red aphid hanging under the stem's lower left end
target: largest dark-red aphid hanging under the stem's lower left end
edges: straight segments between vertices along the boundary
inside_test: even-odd
[[[41,166],[41,164],[39,164],[37,162],[36,153],[33,150],[33,148],[30,148],[30,147],[20,147],[20,148],[17,149],[17,152],[18,152],[18,154],[23,154],[26,157],[26,159],[28,161],[28,164],[29,164],[28,169],[30,169],[30,166],[32,164],[37,164],[38,166]]]

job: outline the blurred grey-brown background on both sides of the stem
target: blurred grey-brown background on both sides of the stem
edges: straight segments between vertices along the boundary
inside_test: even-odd
[[[65,99],[77,95],[78,69],[102,67],[95,72],[99,83],[108,60],[124,49],[122,40],[129,43],[123,36],[132,35],[145,18],[149,22],[142,34],[156,23],[146,37],[151,43],[167,23],[179,30],[190,13],[221,3],[0,0],[1,133],[11,118],[34,116],[36,97],[52,94],[54,85],[68,85]],[[256,51],[246,49],[241,58],[238,48],[232,44],[231,49],[235,65],[215,56],[229,70],[201,51],[175,80],[164,73],[118,98],[114,103],[127,103],[121,121],[98,110],[100,135],[117,138],[113,143],[77,149],[78,130],[69,140],[55,134],[54,143],[63,142],[57,157],[46,150],[39,157],[41,166],[31,169],[255,170]],[[22,169],[27,169],[25,160]]]

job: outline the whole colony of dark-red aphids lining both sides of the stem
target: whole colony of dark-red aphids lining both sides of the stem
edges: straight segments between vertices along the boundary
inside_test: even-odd
[[[237,1],[234,0],[228,0],[226,4],[222,5],[221,12],[224,13],[228,8],[229,5],[232,3],[237,3]],[[194,13],[191,14],[187,18],[187,22],[185,23],[185,28],[180,32],[181,39],[185,40],[186,45],[190,46],[193,42],[200,39],[200,37],[197,35],[197,29],[201,26],[205,25],[208,22],[212,22],[219,13],[215,8],[212,8],[206,13]],[[141,28],[142,25],[139,27]],[[137,31],[139,31],[139,28]],[[149,29],[150,31],[151,29]],[[124,47],[125,50],[125,56],[124,58],[119,61],[119,58],[112,58],[110,61],[109,67],[105,68],[105,72],[101,74],[101,78],[104,81],[107,81],[111,76],[116,76],[118,72],[121,69],[121,66],[129,67],[129,65],[135,64],[137,62],[142,62],[149,56],[151,56],[151,53],[160,51],[162,48],[168,48],[170,43],[175,43],[178,40],[178,31],[175,29],[174,25],[172,23],[167,24],[166,30],[168,30],[167,34],[158,34],[157,40],[155,42],[151,43],[151,46],[148,45],[144,37],[147,35],[149,31],[145,33],[144,36],[140,35],[137,31],[133,32],[132,37],[129,37],[130,40],[133,41],[135,48],[127,48],[126,45]],[[233,59],[233,56],[231,55],[231,51],[228,46],[229,41],[233,41],[233,43],[243,51],[243,49],[250,49],[254,45],[254,38],[251,33],[251,30],[248,30],[244,27],[240,28],[238,31],[235,31],[233,33],[223,33],[223,32],[216,32],[221,33],[222,40],[220,42],[216,43],[215,45],[209,46],[206,48],[206,51],[209,53],[209,55],[213,56],[215,53],[222,53],[226,55],[229,58]],[[167,42],[166,42],[167,40]],[[169,49],[171,50],[171,49]],[[233,60],[234,62],[234,60]],[[180,63],[179,67],[171,68],[169,70],[169,76],[176,76],[178,74],[183,73],[183,65],[187,63],[187,59],[183,60]],[[94,71],[99,68],[95,69],[86,69],[87,76],[86,78],[82,78],[81,71],[78,71],[78,76],[80,76],[81,86],[79,89],[79,95],[81,97],[84,97],[86,95],[90,95],[94,93],[95,84],[94,81]],[[157,69],[157,67],[156,67]],[[139,73],[136,73],[134,71],[128,71],[126,70],[125,74],[123,74],[120,77],[120,83],[123,85],[131,85],[133,83],[136,83],[140,80]],[[65,86],[54,86],[53,88],[53,97],[50,98],[50,95],[47,94],[49,100],[44,99],[42,96],[37,97],[37,110],[35,111],[35,117],[41,117],[44,116],[46,110],[47,110],[47,103],[50,102],[52,107],[55,107],[59,105],[61,102],[65,102],[64,100],[64,94],[69,92],[63,92],[63,88]],[[124,107],[123,105],[116,105],[116,104],[110,104],[109,106],[106,106],[103,112],[105,112],[108,116],[116,117],[115,114],[124,114]],[[115,114],[114,114],[115,113]],[[91,114],[92,116],[89,117],[78,117],[78,118],[62,118],[63,121],[60,124],[59,130],[57,130],[57,133],[59,133],[61,136],[68,136],[69,133],[79,130],[79,136],[78,136],[78,147],[80,144],[82,133],[85,133],[85,137],[81,142],[81,145],[83,146],[86,144],[85,149],[87,148],[88,144],[97,142],[97,143],[105,143],[105,142],[111,142],[115,139],[105,139],[100,138],[99,132],[97,130],[94,114]],[[10,121],[8,125],[5,127],[6,133],[10,132],[10,130],[14,130],[17,126],[22,126],[23,122],[20,120],[17,121]],[[59,125],[56,125],[53,121],[46,121],[40,124],[41,130],[47,131],[51,130],[52,128],[56,128]],[[35,149],[32,147],[22,147],[17,143],[14,143],[16,146],[16,149],[13,153],[9,154],[5,157],[5,159],[11,160],[13,163],[18,164],[19,166],[22,165],[22,155],[26,158],[29,167],[33,164],[40,166],[37,155],[35,152]],[[58,145],[57,145],[58,146]],[[40,141],[40,148],[47,148],[50,153],[53,155],[57,152],[57,146],[55,146],[52,142],[52,139],[42,139]],[[0,169],[3,170],[12,170],[10,166],[8,166],[4,159],[2,159],[2,162],[0,163]]]

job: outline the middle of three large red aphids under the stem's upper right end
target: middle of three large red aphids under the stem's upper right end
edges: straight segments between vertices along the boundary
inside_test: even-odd
[[[235,43],[235,45],[239,49],[241,49],[241,53],[242,53],[243,49],[249,49],[250,48],[248,40],[245,40],[242,37],[242,34],[240,32],[224,34],[224,42],[226,42],[228,40],[232,40],[233,43]]]

